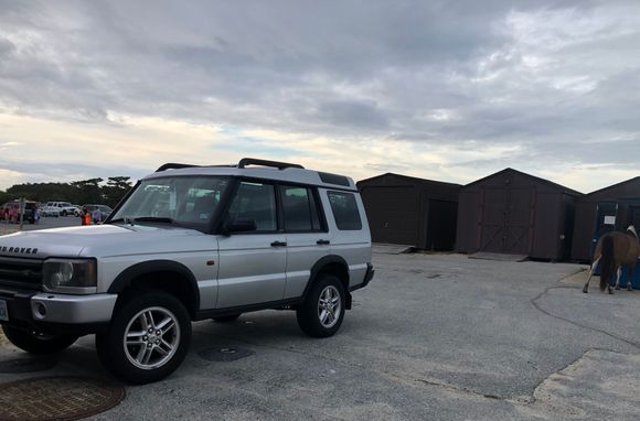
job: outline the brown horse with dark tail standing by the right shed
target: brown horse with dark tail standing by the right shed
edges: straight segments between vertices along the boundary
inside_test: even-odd
[[[616,289],[620,289],[620,274],[622,271],[621,265],[627,265],[629,268],[627,277],[627,290],[631,291],[631,281],[633,278],[633,267],[636,261],[640,257],[640,242],[638,241],[638,234],[636,234],[636,228],[630,225],[627,228],[627,233],[607,233],[600,237],[598,244],[596,245],[596,251],[594,252],[594,263],[589,270],[589,277],[587,278],[587,283],[583,288],[583,292],[589,292],[589,281],[591,276],[596,270],[598,263],[600,263],[600,291],[605,291],[605,288],[610,294],[611,291],[610,279],[614,273],[618,274],[616,280]]]

